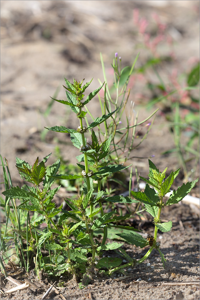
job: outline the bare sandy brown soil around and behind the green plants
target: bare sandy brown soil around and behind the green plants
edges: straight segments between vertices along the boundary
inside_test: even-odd
[[[135,8],[139,9],[141,17],[147,18],[150,34],[153,34],[155,26],[151,15],[157,13],[167,24],[174,40],[175,60],[173,64],[163,66],[164,69],[160,70],[162,76],[167,77],[174,69],[178,70],[178,74],[189,71],[191,61],[199,59],[199,1],[1,1],[1,155],[8,159],[13,185],[22,185],[15,168],[15,157],[32,164],[37,156],[41,160],[52,152],[51,164],[55,161],[58,140],[67,140],[67,143],[59,144],[64,159],[73,164],[77,162],[75,157],[79,151],[77,149],[76,153],[76,149],[71,148],[69,137],[48,132],[45,141],[41,141],[44,126],[75,127],[74,116],[58,103],[53,105],[48,117],[44,117],[43,113],[50,96],[59,85],[64,84],[63,77],[72,80],[74,76],[78,80],[85,78],[85,81],[94,77],[88,92],[99,86],[98,78],[103,81],[99,52],[103,54],[109,82],[113,80],[110,63],[115,52],[122,57],[125,66],[130,65],[140,51],[137,64],[143,64],[147,52],[137,48],[140,37],[136,35],[133,23]],[[161,45],[159,51],[165,53],[167,49]],[[156,82],[153,73],[149,72],[147,76]],[[136,80],[130,101],[135,101],[135,112],[140,111],[139,121],[155,110],[155,107],[148,112],[144,109],[145,103],[137,97],[141,91],[148,99],[143,82]],[[63,88],[57,98],[65,99]],[[90,107],[95,117],[99,116],[97,103],[97,100],[91,102]],[[179,167],[177,157],[173,154],[166,156],[162,152],[173,147],[165,118],[158,113],[147,140],[132,156],[155,155],[152,161],[156,166],[160,170],[168,166],[171,172]],[[132,159],[130,163],[133,167],[137,166],[141,176],[147,176],[147,159]],[[188,162],[187,167],[191,169],[192,162]],[[182,184],[181,178],[176,184]],[[195,196],[199,196],[198,186],[193,190]],[[127,270],[126,278],[119,278],[116,274],[111,278],[101,278],[97,274],[83,290],[74,280],[67,282],[61,278],[60,283],[57,280],[55,284],[60,293],[54,290],[48,299],[199,299],[198,214],[191,206],[176,205],[172,211],[165,208],[164,218],[173,221],[171,232],[159,236],[161,249],[167,258],[165,269],[154,250],[145,263]],[[144,233],[152,233],[151,220],[142,224],[142,229]],[[136,259],[145,253],[144,249],[133,245],[125,243],[124,247]],[[34,275],[25,273],[15,278],[23,280],[24,277],[37,282]],[[40,299],[49,287],[48,282],[53,283],[44,274],[38,290],[32,288],[1,297]],[[1,282],[4,292],[12,286],[6,280]]]

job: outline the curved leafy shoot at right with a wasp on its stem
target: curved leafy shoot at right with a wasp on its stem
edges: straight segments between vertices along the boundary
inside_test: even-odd
[[[139,200],[140,202],[143,202],[147,212],[153,217],[153,223],[155,225],[155,229],[154,229],[154,236],[150,236],[150,239],[148,239],[150,244],[150,249],[141,259],[136,261],[135,259],[131,259],[131,257],[128,256],[124,250],[122,251],[122,249],[119,248],[118,250],[120,252],[119,251],[116,252],[118,252],[125,259],[128,259],[129,263],[125,265],[117,266],[116,268],[113,269],[110,268],[108,271],[105,272],[106,274],[111,274],[115,271],[119,271],[120,269],[124,269],[132,265],[138,265],[144,262],[149,257],[153,249],[159,251],[163,263],[163,267],[165,267],[166,259],[160,250],[159,243],[156,241],[157,233],[158,230],[162,232],[170,231],[172,227],[172,221],[162,222],[161,220],[162,208],[164,208],[166,205],[172,205],[180,202],[191,191],[191,189],[195,186],[196,182],[198,182],[198,179],[196,179],[192,182],[187,182],[186,184],[183,183],[183,185],[181,187],[178,187],[177,190],[173,190],[169,199],[165,202],[163,198],[165,197],[166,193],[170,192],[170,187],[173,184],[174,179],[178,175],[180,168],[177,169],[175,172],[172,171],[171,174],[165,179],[166,170],[167,168],[165,168],[163,172],[159,172],[159,170],[156,168],[153,162],[149,160],[149,175],[148,175],[149,179],[145,179],[144,177],[140,176],[142,180],[147,182],[144,192],[131,191],[134,198]],[[150,185],[153,188],[150,187]],[[118,233],[117,235],[119,235],[121,238],[124,238],[129,243],[139,246],[141,248],[147,245],[147,240],[142,238],[142,236],[139,234],[136,235],[134,233]]]

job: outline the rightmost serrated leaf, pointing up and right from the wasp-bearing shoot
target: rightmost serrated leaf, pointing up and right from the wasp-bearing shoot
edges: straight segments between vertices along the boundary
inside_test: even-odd
[[[181,201],[192,190],[196,182],[198,182],[198,178],[192,182],[187,182],[186,184],[183,183],[181,187],[177,188],[177,191],[173,190],[165,205],[171,205]]]

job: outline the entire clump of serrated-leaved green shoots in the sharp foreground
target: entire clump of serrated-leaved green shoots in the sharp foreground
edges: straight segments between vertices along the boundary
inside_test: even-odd
[[[117,57],[115,58],[117,59]],[[116,61],[115,61],[116,62]],[[116,65],[114,65],[114,68]],[[116,69],[118,70],[118,69]],[[118,71],[116,71],[118,72]],[[121,73],[121,72],[120,72]],[[117,80],[120,80],[120,76]],[[2,244],[5,245],[6,241],[6,230],[8,226],[8,220],[12,223],[12,228],[14,232],[14,244],[16,247],[16,252],[18,251],[18,257],[23,257],[21,265],[29,270],[30,261],[33,258],[35,263],[35,268],[39,276],[39,271],[44,269],[49,275],[57,275],[67,273],[73,274],[77,280],[81,279],[80,288],[83,288],[90,281],[90,273],[94,268],[102,269],[107,268],[106,274],[111,274],[113,271],[118,271],[127,266],[120,266],[122,259],[104,257],[101,258],[102,252],[105,250],[116,250],[119,249],[119,253],[130,260],[127,253],[121,248],[121,243],[112,242],[106,244],[108,228],[111,229],[123,229],[129,230],[133,233],[119,233],[118,235],[125,238],[128,237],[128,241],[132,241],[134,244],[144,247],[147,242],[137,233],[137,229],[131,226],[121,226],[116,223],[121,220],[128,219],[132,212],[122,215],[117,214],[117,210],[114,208],[112,211],[105,211],[105,207],[102,203],[124,203],[125,205],[130,203],[143,202],[147,211],[153,215],[155,223],[155,234],[154,243],[144,258],[137,261],[137,263],[143,262],[151,253],[153,248],[159,250],[159,246],[156,244],[157,230],[168,231],[171,228],[171,223],[162,223],[160,220],[161,209],[164,205],[169,205],[177,203],[180,201],[186,193],[188,193],[192,187],[195,185],[194,181],[192,183],[187,183],[185,186],[180,187],[177,192],[173,192],[172,196],[166,203],[163,203],[163,196],[169,191],[174,178],[177,176],[179,170],[172,172],[171,175],[163,183],[165,177],[166,169],[159,173],[154,164],[150,161],[150,180],[146,180],[147,183],[151,184],[156,188],[157,193],[149,187],[145,189],[145,192],[133,192],[132,197],[124,197],[122,195],[110,196],[105,193],[102,189],[102,181],[106,180],[107,176],[113,173],[123,171],[129,166],[118,164],[118,152],[115,150],[114,153],[116,160],[110,152],[111,143],[115,146],[115,135],[117,132],[116,118],[114,114],[117,112],[117,108],[107,114],[103,114],[101,117],[97,117],[92,123],[88,123],[87,126],[83,123],[86,118],[87,111],[85,110],[85,105],[98,94],[103,84],[91,92],[86,100],[84,98],[84,92],[89,86],[90,82],[83,85],[82,82],[78,82],[74,79],[73,83],[65,79],[67,87],[66,96],[67,101],[57,100],[64,105],[67,105],[76,114],[79,125],[76,129],[65,128],[64,126],[54,126],[48,128],[49,130],[69,133],[71,136],[71,141],[75,147],[80,149],[81,154],[77,157],[81,172],[79,174],[60,174],[57,175],[60,160],[58,159],[53,165],[46,167],[45,164],[50,157],[47,155],[43,158],[41,162],[37,158],[33,165],[23,161],[20,158],[16,160],[17,170],[23,180],[29,182],[30,185],[25,184],[23,187],[13,187],[10,180],[10,188],[8,184],[8,178],[10,178],[9,169],[8,176],[4,174],[5,181],[5,203],[2,205],[5,207],[6,211],[6,227],[3,236],[1,235]],[[117,81],[118,82],[118,81]],[[105,90],[106,94],[106,90]],[[108,104],[110,102],[110,104]],[[127,102],[127,101],[125,101]],[[105,107],[113,104],[111,99],[107,99],[105,95]],[[123,106],[121,106],[123,109]],[[113,117],[115,116],[115,118]],[[121,113],[120,113],[121,116]],[[107,125],[107,120],[111,119],[110,125]],[[104,123],[105,133],[101,129],[101,124]],[[136,127],[138,124],[131,125]],[[105,140],[100,140],[93,128],[98,128],[98,133],[105,136]],[[127,127],[130,128],[127,122]],[[109,132],[111,130],[111,132]],[[122,130],[122,129],[121,129]],[[91,144],[87,143],[87,131],[91,134]],[[129,150],[132,148],[129,146]],[[2,161],[3,168],[4,163]],[[55,180],[74,180],[82,179],[83,189],[74,198],[65,198],[70,211],[64,210],[62,205],[56,207],[55,202],[53,202],[55,194],[58,192],[60,186],[53,187]],[[97,182],[97,190],[94,190],[94,181]],[[185,188],[186,187],[186,188]],[[130,190],[130,189],[129,189]],[[19,199],[19,203],[15,199]],[[13,210],[14,209],[14,210]],[[13,215],[14,211],[14,215]],[[20,214],[27,212],[26,222],[24,222],[23,228],[20,227]],[[17,220],[17,226],[14,228],[14,221]],[[44,224],[46,226],[44,227]],[[41,225],[43,225],[41,230]],[[102,232],[102,240],[99,241],[95,236]],[[18,246],[17,236],[20,240],[20,249]],[[24,247],[23,240],[26,240],[26,247]],[[42,247],[48,250],[48,256],[44,255]],[[161,251],[159,250],[161,253]],[[27,260],[26,260],[27,256]],[[164,260],[161,253],[162,260]],[[129,265],[135,265],[135,260],[130,260]],[[3,268],[3,262],[1,261],[1,267]],[[5,270],[4,270],[5,271]]]

